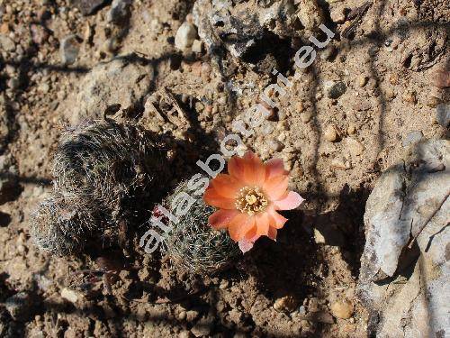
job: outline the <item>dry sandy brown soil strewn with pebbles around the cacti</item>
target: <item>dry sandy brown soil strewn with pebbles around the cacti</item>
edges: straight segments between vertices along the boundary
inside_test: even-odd
[[[123,103],[133,91],[132,109],[112,118],[166,135],[175,154],[174,179],[161,185],[166,194],[198,172],[195,161],[217,150],[231,122],[259,102],[275,81],[265,68],[271,58],[249,67],[226,50],[220,58],[204,46],[201,52],[177,50],[175,33],[193,1],[135,1],[126,23],[115,25],[108,22],[111,4],[84,16],[64,0],[0,0],[2,178],[9,172],[19,185],[2,187],[8,201],[0,206],[0,336],[368,336],[368,315],[355,294],[365,200],[374,180],[418,135],[411,132],[445,135],[436,117],[445,93],[432,84],[434,72],[446,67],[450,20],[446,0],[370,3],[360,19],[351,19],[361,2],[320,2],[336,36],[300,78],[293,78],[300,72],[293,56],[301,38],[286,38],[290,47],[274,54],[294,86],[244,142],[264,160],[283,158],[292,170],[291,188],[307,200],[287,214],[278,241],[257,242],[211,278],[175,269],[160,255],[140,251],[118,258],[121,253],[105,251],[123,267],[112,280],[111,297],[101,281],[79,288],[68,280],[74,271],[95,268],[94,258],[58,258],[31,243],[30,215],[51,190],[61,131],[79,121],[83,107]],[[355,21],[356,31],[344,38]],[[70,34],[76,34],[79,53],[64,65],[59,46]],[[86,92],[91,69],[126,55],[126,67],[139,75],[134,85],[100,74],[100,94]],[[137,84],[140,75],[148,81],[144,87]],[[330,97],[329,81],[344,83],[345,92]],[[160,120],[146,105],[152,99],[168,112],[164,88],[188,118]],[[99,102],[85,103],[85,96],[95,95]],[[23,303],[13,318],[4,302],[20,292]],[[340,312],[337,304],[343,304]]]

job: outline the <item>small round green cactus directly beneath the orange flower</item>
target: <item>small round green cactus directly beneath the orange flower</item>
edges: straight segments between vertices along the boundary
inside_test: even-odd
[[[175,196],[185,192],[195,199],[186,215],[179,216],[179,222],[167,220],[170,232],[165,233],[164,251],[171,262],[190,272],[211,275],[224,269],[239,255],[238,244],[224,231],[217,231],[208,224],[208,217],[215,211],[206,206],[202,196],[189,191],[187,181],[175,188],[175,192],[166,198],[167,210],[174,214],[177,207]]]

